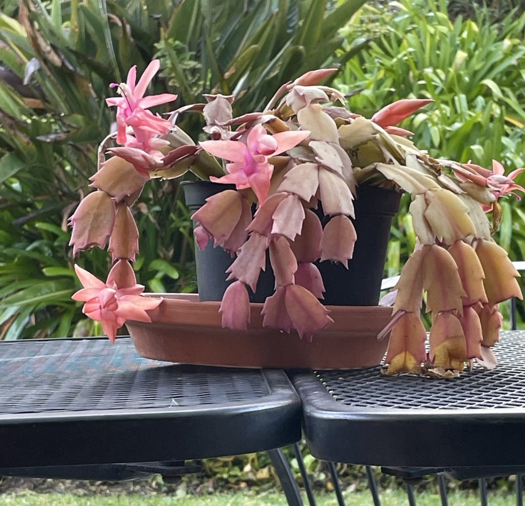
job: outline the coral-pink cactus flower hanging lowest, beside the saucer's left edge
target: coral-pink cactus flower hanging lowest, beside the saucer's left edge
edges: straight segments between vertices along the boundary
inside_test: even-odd
[[[85,302],[82,312],[92,320],[102,322],[102,330],[112,342],[117,330],[127,320],[151,322],[146,311],[155,309],[162,302],[162,299],[141,297],[144,287],[136,281],[132,286],[119,288],[113,279],[113,270],[106,283],[78,265],[75,265],[75,272],[84,288],[74,293],[72,299]]]

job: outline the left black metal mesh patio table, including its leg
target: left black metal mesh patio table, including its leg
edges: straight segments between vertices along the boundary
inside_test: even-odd
[[[269,450],[289,504],[302,504],[282,452],[301,437],[283,371],[169,364],[130,339],[0,342],[0,476],[129,479],[194,471],[187,459]]]

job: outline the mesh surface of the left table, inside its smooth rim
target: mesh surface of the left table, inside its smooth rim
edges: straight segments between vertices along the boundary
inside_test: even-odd
[[[0,415],[173,409],[254,402],[270,393],[260,370],[148,360],[129,339],[4,342],[0,378]]]

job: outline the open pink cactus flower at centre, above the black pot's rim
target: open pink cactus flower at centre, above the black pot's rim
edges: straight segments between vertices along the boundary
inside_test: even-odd
[[[201,146],[208,153],[229,160],[229,174],[209,178],[214,183],[235,184],[237,189],[251,188],[259,203],[264,203],[270,189],[274,166],[270,156],[283,153],[308,137],[308,131],[280,132],[269,135],[262,125],[248,132],[246,144],[242,141],[204,141]]]

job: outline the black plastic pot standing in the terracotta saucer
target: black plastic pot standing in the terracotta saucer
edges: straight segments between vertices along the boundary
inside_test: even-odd
[[[182,183],[186,205],[192,212],[202,207],[206,198],[234,185],[211,183],[209,181],[185,181]],[[324,304],[330,305],[377,305],[386,259],[388,238],[392,218],[400,204],[401,194],[391,189],[360,186],[354,201],[356,219],[352,220],[358,240],[354,255],[348,262],[348,270],[340,263],[328,260],[317,262],[323,277]],[[320,213],[323,226],[329,217]],[[195,227],[195,222],[194,222]],[[197,287],[199,299],[219,301],[231,283],[226,281],[226,269],[232,263],[229,253],[214,248],[210,240],[204,250],[195,247]],[[261,272],[256,293],[250,292],[251,302],[264,302],[274,292],[275,278],[269,262],[266,272]]]

